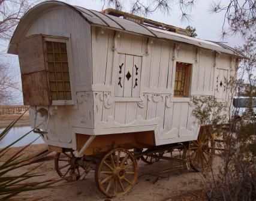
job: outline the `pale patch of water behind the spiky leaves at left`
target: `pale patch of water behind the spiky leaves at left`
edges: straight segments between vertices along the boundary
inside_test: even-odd
[[[4,129],[0,129],[0,133],[3,130]],[[4,148],[7,145],[10,145],[12,142],[16,141],[21,136],[28,133],[30,130],[31,130],[30,126],[13,127],[7,133],[7,135],[5,135],[4,138],[0,141],[0,148]],[[33,142],[32,144],[43,144],[44,143],[43,139],[40,137],[40,135],[38,133],[31,132],[25,138],[21,139],[19,142],[14,144],[12,147],[20,147],[20,146],[28,145],[29,143],[31,143],[35,139],[37,139],[37,140],[35,142]]]

